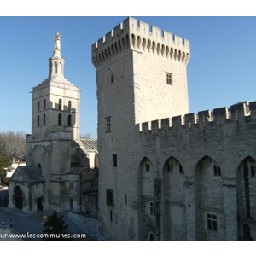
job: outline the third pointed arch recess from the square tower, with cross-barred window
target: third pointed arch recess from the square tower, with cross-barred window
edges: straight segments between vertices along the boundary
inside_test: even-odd
[[[197,240],[224,240],[223,171],[208,155],[195,168],[195,221]]]

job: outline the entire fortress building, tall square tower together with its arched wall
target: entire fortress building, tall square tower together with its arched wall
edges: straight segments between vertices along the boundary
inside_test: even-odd
[[[92,45],[105,239],[256,239],[256,102],[189,113],[189,56],[133,18]]]

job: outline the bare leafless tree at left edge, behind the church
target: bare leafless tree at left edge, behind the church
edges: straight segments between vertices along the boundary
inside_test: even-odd
[[[0,133],[0,153],[9,156],[13,161],[24,159],[26,154],[26,134],[20,131]]]

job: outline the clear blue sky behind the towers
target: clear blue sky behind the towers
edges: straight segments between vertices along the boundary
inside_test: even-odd
[[[81,90],[80,133],[96,138],[96,69],[91,45],[127,16],[1,16],[0,132],[31,133],[32,87],[48,77],[55,32],[64,76]],[[186,38],[189,113],[255,101],[256,17],[132,16]]]

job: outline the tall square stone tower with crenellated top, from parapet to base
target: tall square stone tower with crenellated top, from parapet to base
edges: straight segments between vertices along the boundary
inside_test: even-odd
[[[108,239],[140,239],[136,125],[189,113],[189,55],[189,41],[141,21],[137,24],[133,18],[92,45],[98,100],[99,222]]]

